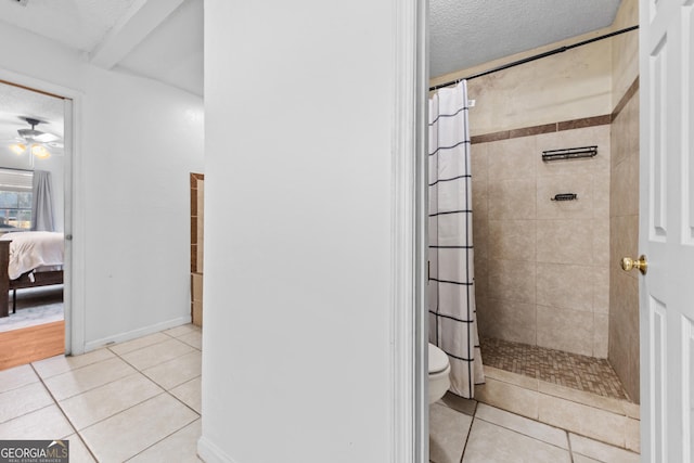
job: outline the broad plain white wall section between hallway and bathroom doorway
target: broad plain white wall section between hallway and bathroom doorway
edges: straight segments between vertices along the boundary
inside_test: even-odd
[[[389,461],[395,2],[205,2],[207,461]]]

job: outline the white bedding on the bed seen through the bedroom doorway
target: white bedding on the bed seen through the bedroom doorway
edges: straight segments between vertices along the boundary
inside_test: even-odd
[[[63,233],[15,232],[7,233],[0,240],[12,240],[8,265],[10,280],[38,268],[63,265]]]

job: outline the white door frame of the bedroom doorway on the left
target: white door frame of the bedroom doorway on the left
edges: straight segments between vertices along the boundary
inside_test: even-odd
[[[28,91],[63,98],[64,104],[64,232],[65,263],[63,307],[65,317],[65,355],[85,352],[85,215],[82,158],[80,150],[80,113],[82,93],[42,79],[0,67],[0,80]]]

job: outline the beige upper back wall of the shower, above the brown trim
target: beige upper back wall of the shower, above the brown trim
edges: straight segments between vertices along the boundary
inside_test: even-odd
[[[501,64],[543,53],[612,31],[601,29],[527,52],[432,79],[432,85],[460,79]],[[476,100],[470,113],[472,136],[579,119],[612,112],[612,40],[600,40],[467,82]],[[568,82],[568,83],[567,83]]]

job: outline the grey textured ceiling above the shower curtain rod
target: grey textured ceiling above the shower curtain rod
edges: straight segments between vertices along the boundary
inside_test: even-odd
[[[429,75],[609,26],[620,0],[429,0]]]

